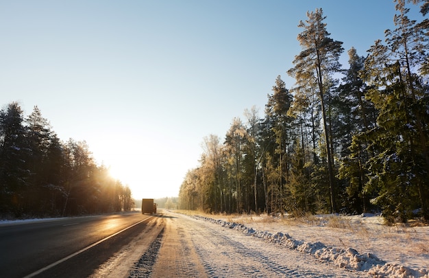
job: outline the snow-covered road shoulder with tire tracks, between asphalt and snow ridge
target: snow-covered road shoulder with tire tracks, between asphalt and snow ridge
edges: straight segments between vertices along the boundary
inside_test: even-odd
[[[148,277],[367,276],[356,270],[332,267],[332,264],[311,254],[284,248],[279,244],[267,244],[265,240],[202,218],[168,211],[166,220],[166,238],[162,239],[154,271]],[[176,239],[168,240],[169,236]],[[160,269],[170,269],[171,272],[160,273],[157,271]]]

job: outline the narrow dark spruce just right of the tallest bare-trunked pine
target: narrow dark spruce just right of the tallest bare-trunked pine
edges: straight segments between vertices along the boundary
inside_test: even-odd
[[[360,78],[365,58],[352,48],[348,51],[349,69],[339,86],[338,109],[341,113],[341,126],[337,135],[341,142],[341,166],[339,177],[347,184],[345,207],[352,213],[362,213],[369,209],[369,198],[364,192],[367,183],[365,163],[373,156],[367,150],[369,142],[365,132],[376,126],[376,109],[365,100],[369,87]]]

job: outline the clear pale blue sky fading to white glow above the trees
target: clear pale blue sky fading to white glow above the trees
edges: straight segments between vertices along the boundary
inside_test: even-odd
[[[0,106],[38,106],[85,140],[134,198],[177,196],[201,142],[223,138],[301,50],[306,12],[361,56],[392,26],[391,0],[0,0]],[[417,7],[414,8],[417,10]]]

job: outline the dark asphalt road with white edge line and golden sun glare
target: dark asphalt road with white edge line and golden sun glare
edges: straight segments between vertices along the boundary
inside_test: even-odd
[[[36,277],[86,277],[138,235],[150,218],[123,213],[0,224],[0,277],[25,277],[79,251]]]

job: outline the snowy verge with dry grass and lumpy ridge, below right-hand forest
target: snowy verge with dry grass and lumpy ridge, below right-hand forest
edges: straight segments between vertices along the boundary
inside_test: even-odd
[[[429,277],[429,227],[363,216],[193,216],[374,277]]]

